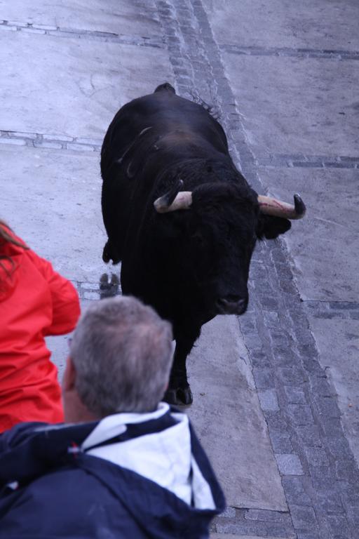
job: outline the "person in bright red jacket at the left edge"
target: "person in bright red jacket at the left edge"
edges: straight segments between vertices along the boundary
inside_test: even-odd
[[[0,220],[0,432],[64,420],[44,337],[69,333],[79,315],[74,286]]]

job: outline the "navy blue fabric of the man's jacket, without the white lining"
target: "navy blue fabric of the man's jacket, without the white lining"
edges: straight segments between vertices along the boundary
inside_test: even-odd
[[[126,425],[123,434],[102,445],[121,449],[123,441],[163,432],[175,424],[172,412]],[[224,510],[224,496],[191,426],[191,455],[214,501],[209,509],[81,451],[98,424],[22,423],[0,436],[0,538],[208,538],[210,520]]]

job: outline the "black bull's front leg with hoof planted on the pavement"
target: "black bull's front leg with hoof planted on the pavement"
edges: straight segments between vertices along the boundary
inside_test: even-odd
[[[168,402],[168,404],[189,406],[193,402],[191,387],[189,387],[187,380],[186,360],[195,340],[198,338],[198,334],[199,331],[191,336],[177,335],[170,382],[168,384],[168,390],[163,397],[163,400]]]

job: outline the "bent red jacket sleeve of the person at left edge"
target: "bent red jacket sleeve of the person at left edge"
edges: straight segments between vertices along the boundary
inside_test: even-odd
[[[76,289],[65,277],[55,272],[53,266],[40,258],[34,251],[26,251],[32,258],[39,272],[48,282],[51,300],[53,303],[53,320],[45,329],[45,335],[62,335],[72,331],[80,316],[79,295]]]

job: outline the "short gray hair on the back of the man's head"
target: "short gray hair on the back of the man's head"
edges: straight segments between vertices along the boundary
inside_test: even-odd
[[[170,375],[172,328],[135,298],[100,300],[82,315],[70,357],[90,412],[154,411]]]

